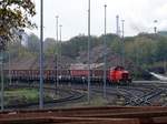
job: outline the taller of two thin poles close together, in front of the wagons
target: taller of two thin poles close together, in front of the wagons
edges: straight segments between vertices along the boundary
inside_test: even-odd
[[[58,74],[58,56],[59,56],[59,17],[57,16],[56,17],[56,19],[57,19],[57,53],[56,53],[56,66],[57,66],[57,81],[56,81],[56,89],[59,86],[59,74]],[[58,89],[57,89],[57,91],[58,91]]]

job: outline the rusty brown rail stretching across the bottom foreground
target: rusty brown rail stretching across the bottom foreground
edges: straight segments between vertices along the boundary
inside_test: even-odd
[[[2,124],[166,124],[167,107],[76,107],[7,111]]]

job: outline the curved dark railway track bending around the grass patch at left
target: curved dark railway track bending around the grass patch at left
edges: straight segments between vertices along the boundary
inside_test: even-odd
[[[16,87],[16,85],[10,85],[10,87],[13,86]],[[19,85],[17,84],[17,87],[33,87],[33,89],[38,89],[38,86],[36,85]],[[48,91],[48,92],[52,92],[55,93],[56,91],[58,91],[59,93],[59,99],[55,99],[55,100],[50,100],[50,101],[45,101],[45,107],[49,107],[49,106],[57,106],[60,104],[68,104],[68,103],[72,103],[73,101],[77,101],[77,100],[84,100],[86,97],[86,94],[85,93],[81,93],[79,91],[75,91],[75,90],[71,90],[71,89],[55,89],[55,87],[49,87],[49,86],[45,86],[45,91]],[[6,107],[7,108],[36,108],[38,107],[39,105],[39,102],[31,102],[31,103],[23,103],[23,104],[18,104],[18,105],[7,105]]]

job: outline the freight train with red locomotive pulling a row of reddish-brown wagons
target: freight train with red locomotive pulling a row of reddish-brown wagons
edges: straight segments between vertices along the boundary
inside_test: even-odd
[[[6,70],[7,78],[11,76],[12,80],[23,80],[23,81],[39,81],[39,70]],[[56,81],[57,75],[60,82],[86,82],[88,78],[88,70],[45,70],[43,80],[45,81]],[[128,71],[122,66],[115,66],[107,70],[107,82],[109,83],[129,83],[131,78]],[[102,82],[104,71],[102,70],[90,70],[91,82]]]

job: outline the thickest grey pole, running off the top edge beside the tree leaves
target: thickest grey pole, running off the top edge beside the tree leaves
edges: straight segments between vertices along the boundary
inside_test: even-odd
[[[40,0],[40,100],[39,107],[43,108],[43,0]]]

